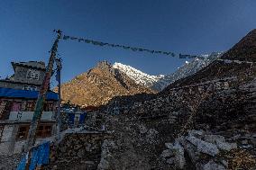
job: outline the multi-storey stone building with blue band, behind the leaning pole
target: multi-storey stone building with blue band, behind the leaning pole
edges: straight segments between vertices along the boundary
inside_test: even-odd
[[[0,80],[0,155],[23,151],[46,70],[43,62],[12,62],[12,65],[14,75]],[[57,101],[58,94],[49,91],[36,132],[37,142],[55,134]]]

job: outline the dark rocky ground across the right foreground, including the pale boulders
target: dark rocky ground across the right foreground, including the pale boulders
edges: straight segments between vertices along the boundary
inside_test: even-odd
[[[90,126],[105,125],[114,137],[101,169],[255,168],[255,95],[242,87],[194,97],[180,92],[119,115],[94,113]],[[201,100],[182,103],[188,95]]]

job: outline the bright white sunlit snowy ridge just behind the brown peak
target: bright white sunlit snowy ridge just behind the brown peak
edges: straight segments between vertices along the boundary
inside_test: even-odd
[[[144,85],[146,87],[151,87],[152,85],[155,85],[158,81],[160,81],[161,78],[164,77],[163,75],[151,76],[146,73],[143,73],[142,71],[134,67],[123,65],[122,63],[117,62],[114,63],[113,67],[125,73],[127,76],[132,78],[137,84]]]

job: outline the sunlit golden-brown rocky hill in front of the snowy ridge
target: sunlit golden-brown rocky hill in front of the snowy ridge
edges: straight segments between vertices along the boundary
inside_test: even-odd
[[[61,85],[64,102],[83,106],[99,106],[114,96],[142,93],[151,94],[153,91],[136,84],[106,61],[99,62],[96,67]]]

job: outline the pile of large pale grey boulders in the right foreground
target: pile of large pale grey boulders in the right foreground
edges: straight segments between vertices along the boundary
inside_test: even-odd
[[[179,169],[188,164],[198,170],[230,168],[230,160],[226,156],[238,148],[236,143],[227,142],[223,136],[204,130],[189,130],[187,136],[175,139],[174,143],[165,143],[165,146],[160,157],[167,164]]]

